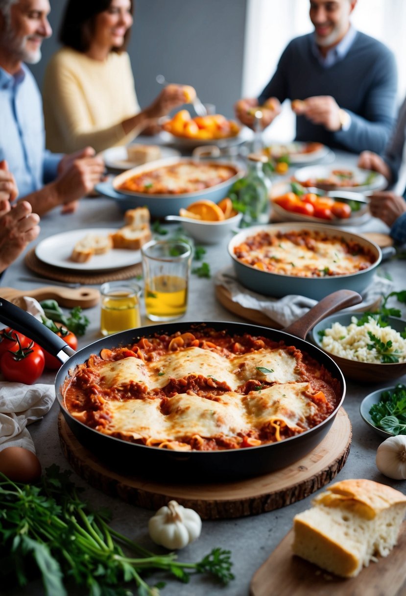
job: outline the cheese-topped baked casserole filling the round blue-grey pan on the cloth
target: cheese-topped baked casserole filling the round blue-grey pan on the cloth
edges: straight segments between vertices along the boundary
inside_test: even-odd
[[[261,271],[296,277],[348,275],[368,269],[374,254],[355,241],[318,230],[261,231],[234,247],[241,263]]]

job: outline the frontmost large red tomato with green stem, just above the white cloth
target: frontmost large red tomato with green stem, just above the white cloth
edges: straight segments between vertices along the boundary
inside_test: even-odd
[[[14,352],[5,352],[0,359],[0,369],[6,381],[32,385],[42,375],[45,356],[38,344],[32,342]]]

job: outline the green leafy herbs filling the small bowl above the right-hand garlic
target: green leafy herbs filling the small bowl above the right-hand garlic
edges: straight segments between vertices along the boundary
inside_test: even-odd
[[[375,426],[392,434],[406,434],[406,386],[398,383],[393,390],[380,394],[369,415]]]

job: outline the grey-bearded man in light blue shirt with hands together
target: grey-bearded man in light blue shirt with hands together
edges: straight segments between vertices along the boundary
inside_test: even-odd
[[[0,0],[0,160],[7,159],[20,197],[38,215],[58,205],[73,210],[104,171],[91,147],[66,156],[45,150],[42,100],[24,63],[41,58],[52,33],[49,11],[48,0]]]

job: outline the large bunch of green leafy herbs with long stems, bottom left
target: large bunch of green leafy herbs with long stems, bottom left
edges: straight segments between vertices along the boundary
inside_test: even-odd
[[[214,548],[198,563],[183,563],[174,552],[157,555],[116,532],[105,511],[81,501],[70,474],[52,465],[38,485],[22,485],[0,473],[3,581],[8,576],[26,586],[35,564],[46,596],[124,596],[133,593],[128,582],[135,582],[139,596],[158,596],[164,582],[150,586],[145,573],[160,570],[185,583],[195,573],[223,584],[234,578],[228,550]]]

